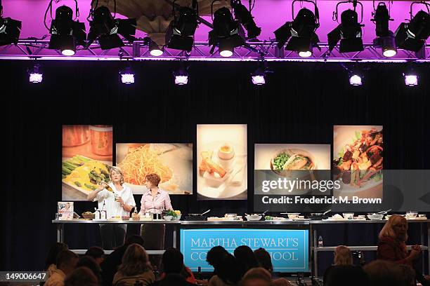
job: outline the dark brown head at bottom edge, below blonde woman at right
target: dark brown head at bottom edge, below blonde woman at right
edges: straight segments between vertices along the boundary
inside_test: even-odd
[[[375,260],[366,264],[370,286],[404,286],[403,270],[398,264],[386,260]]]

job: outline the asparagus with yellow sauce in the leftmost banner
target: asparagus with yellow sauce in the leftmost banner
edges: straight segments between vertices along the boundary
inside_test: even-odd
[[[84,194],[97,189],[100,182],[110,182],[110,165],[82,155],[67,158],[62,163],[62,182]]]

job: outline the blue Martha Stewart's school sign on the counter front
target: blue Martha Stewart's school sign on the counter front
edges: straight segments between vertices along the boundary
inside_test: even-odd
[[[221,245],[228,252],[247,245],[263,247],[271,254],[275,272],[309,272],[307,229],[181,229],[183,262],[192,271],[214,271],[206,261],[207,252]]]

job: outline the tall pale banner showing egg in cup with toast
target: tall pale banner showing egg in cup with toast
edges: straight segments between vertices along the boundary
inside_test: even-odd
[[[247,199],[247,125],[197,125],[197,199]]]

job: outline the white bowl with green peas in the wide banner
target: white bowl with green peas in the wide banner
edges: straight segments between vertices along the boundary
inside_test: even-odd
[[[271,158],[271,170],[282,177],[306,177],[316,168],[315,157],[303,149],[282,149]]]

